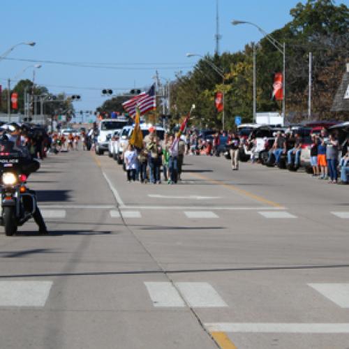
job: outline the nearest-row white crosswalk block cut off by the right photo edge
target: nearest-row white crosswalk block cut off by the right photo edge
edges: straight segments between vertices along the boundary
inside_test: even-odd
[[[308,283],[341,308],[349,308],[349,283]]]

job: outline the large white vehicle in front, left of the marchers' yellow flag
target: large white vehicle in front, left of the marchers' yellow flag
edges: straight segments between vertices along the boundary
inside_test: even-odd
[[[96,143],[96,154],[103,155],[108,149],[108,143],[115,131],[121,129],[128,124],[126,119],[103,119],[98,122],[98,137]]]

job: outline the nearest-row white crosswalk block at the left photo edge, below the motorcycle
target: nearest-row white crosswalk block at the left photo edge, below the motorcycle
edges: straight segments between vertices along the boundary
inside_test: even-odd
[[[0,281],[0,306],[45,306],[52,281]]]

